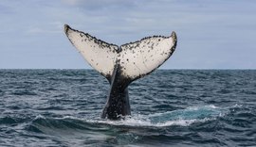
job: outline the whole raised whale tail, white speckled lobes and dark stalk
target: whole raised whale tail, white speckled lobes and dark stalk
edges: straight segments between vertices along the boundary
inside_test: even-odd
[[[152,73],[172,56],[176,34],[153,36],[115,45],[75,30],[64,24],[64,32],[85,60],[110,83],[110,91],[101,118],[118,120],[131,115],[128,86],[134,80]]]

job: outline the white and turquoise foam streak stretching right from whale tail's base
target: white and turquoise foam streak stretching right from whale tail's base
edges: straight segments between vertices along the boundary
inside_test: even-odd
[[[150,115],[136,114],[124,120],[86,120],[86,122],[106,123],[126,126],[165,127],[172,125],[188,126],[194,122],[208,122],[223,117],[225,112],[217,106],[192,106],[186,109],[154,113]]]

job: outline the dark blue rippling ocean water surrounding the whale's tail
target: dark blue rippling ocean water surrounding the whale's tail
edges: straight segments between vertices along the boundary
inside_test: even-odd
[[[101,119],[92,70],[0,70],[0,146],[256,146],[256,70],[157,70]]]

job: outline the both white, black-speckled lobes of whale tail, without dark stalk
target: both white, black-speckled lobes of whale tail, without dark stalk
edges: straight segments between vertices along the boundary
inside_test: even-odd
[[[176,45],[174,32],[170,37],[154,36],[119,47],[72,29],[66,24],[64,31],[82,57],[106,77],[111,76],[117,63],[121,74],[131,79],[151,73],[171,57]]]

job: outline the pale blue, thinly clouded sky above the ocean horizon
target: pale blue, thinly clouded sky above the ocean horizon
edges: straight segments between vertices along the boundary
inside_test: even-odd
[[[64,24],[117,45],[175,31],[161,69],[256,69],[255,0],[1,0],[0,69],[90,69]]]

